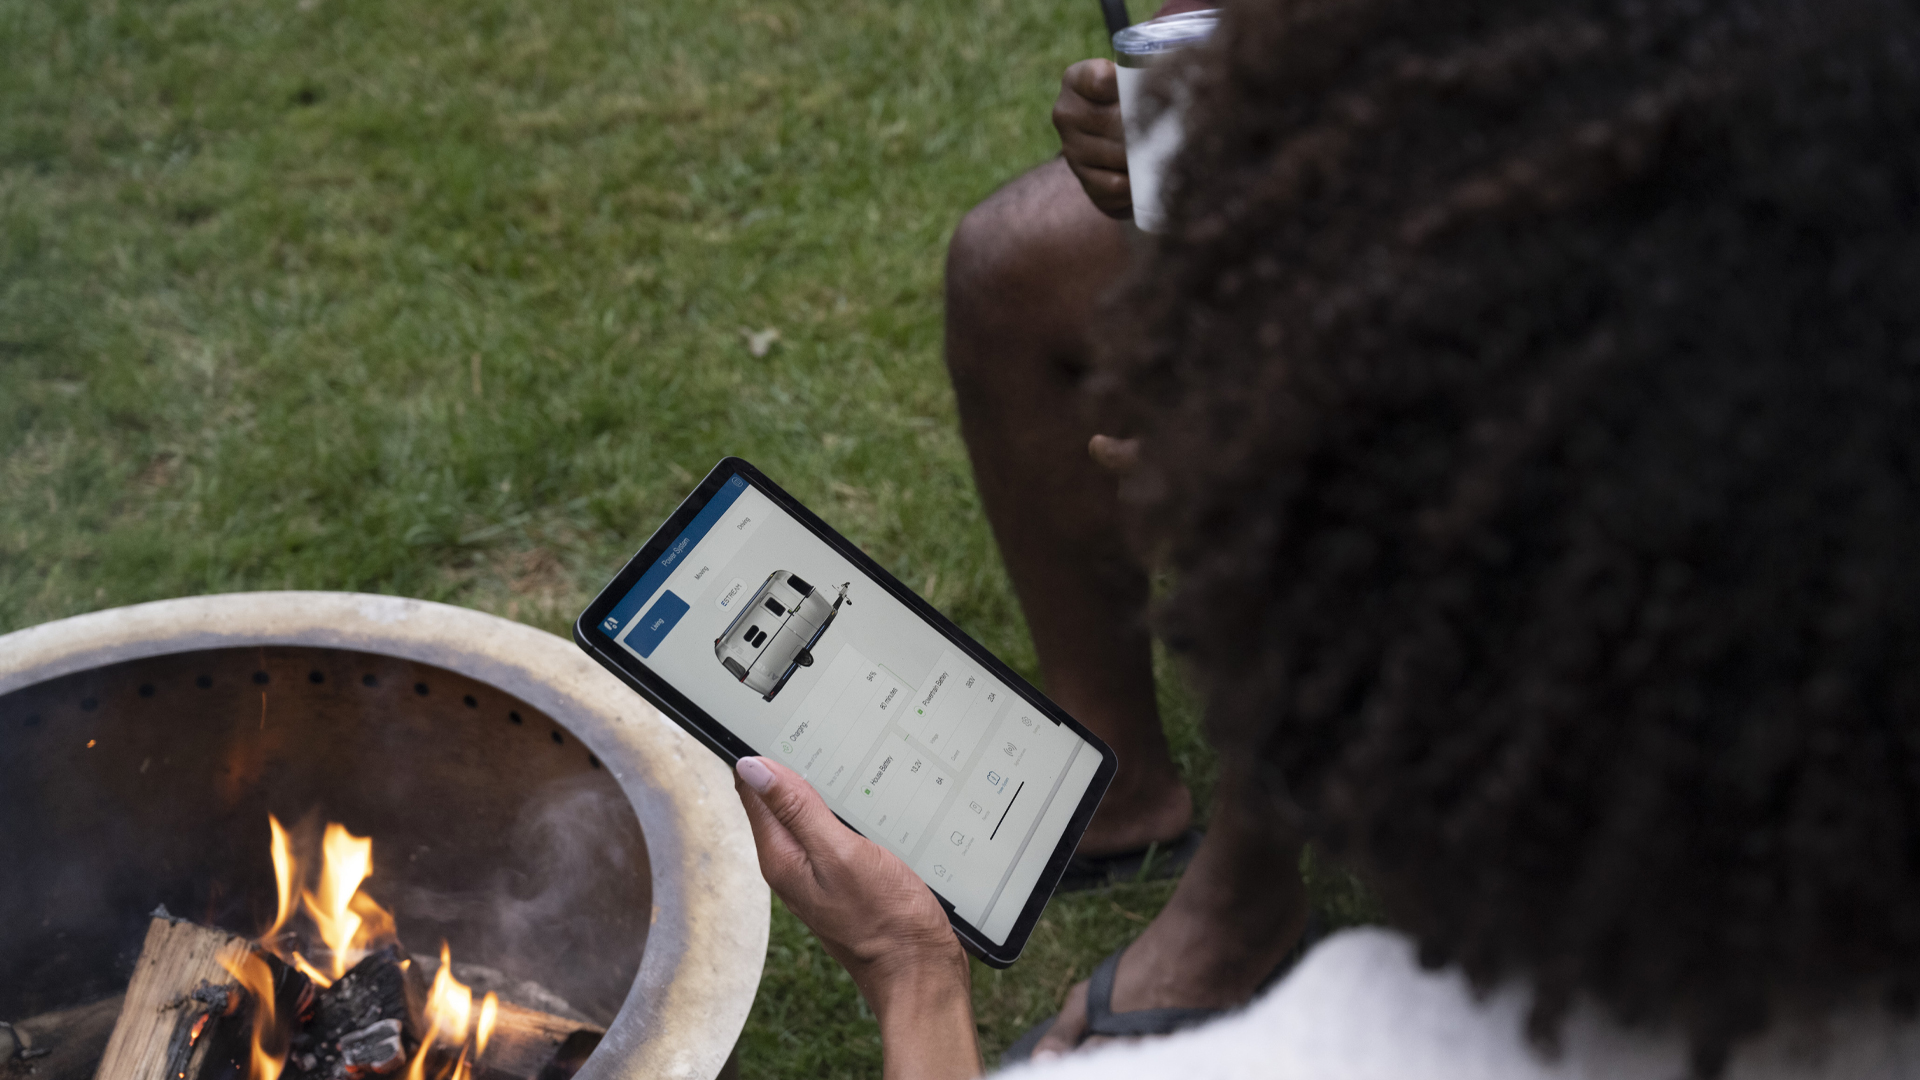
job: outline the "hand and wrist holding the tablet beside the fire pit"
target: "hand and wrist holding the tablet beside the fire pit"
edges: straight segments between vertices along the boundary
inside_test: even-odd
[[[733,788],[766,884],[879,1020],[887,1080],[979,1076],[966,953],[927,886],[785,765],[743,757]]]

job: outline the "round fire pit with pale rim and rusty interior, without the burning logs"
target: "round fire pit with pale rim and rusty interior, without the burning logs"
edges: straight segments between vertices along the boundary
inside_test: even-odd
[[[261,932],[269,815],[369,836],[415,953],[605,1026],[582,1080],[728,1059],[768,894],[726,767],[570,642],[326,592],[0,636],[0,1020],[125,992],[156,905]]]

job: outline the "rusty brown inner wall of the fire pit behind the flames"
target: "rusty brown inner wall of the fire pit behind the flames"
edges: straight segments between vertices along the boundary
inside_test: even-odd
[[[169,694],[188,682],[202,692]],[[468,698],[516,724],[468,723]],[[123,992],[157,903],[265,928],[275,813],[372,838],[365,890],[411,951],[447,940],[457,970],[611,1022],[645,944],[647,847],[614,778],[578,744],[528,753],[545,740],[522,715],[559,736],[474,678],[321,648],[177,653],[0,696],[0,730],[21,732],[0,740],[0,1019]]]

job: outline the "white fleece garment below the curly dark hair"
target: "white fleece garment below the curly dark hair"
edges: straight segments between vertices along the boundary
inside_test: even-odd
[[[1476,1001],[1457,970],[1425,970],[1392,930],[1321,942],[1246,1009],[1177,1036],[1106,1045],[998,1072],[1000,1080],[1682,1080],[1678,1038],[1569,1017],[1561,1055],[1524,1038],[1528,995]],[[1726,1080],[1920,1080],[1920,1024],[1884,1013],[1741,1043]]]

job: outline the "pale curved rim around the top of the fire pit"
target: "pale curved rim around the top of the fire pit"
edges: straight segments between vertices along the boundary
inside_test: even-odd
[[[766,963],[770,897],[747,815],[718,757],[572,642],[397,596],[194,596],[0,636],[0,694],[111,663],[234,646],[317,646],[430,663],[497,686],[572,732],[620,782],[653,865],[653,924],[639,974],[580,1080],[720,1072]],[[703,905],[695,909],[689,897]]]

